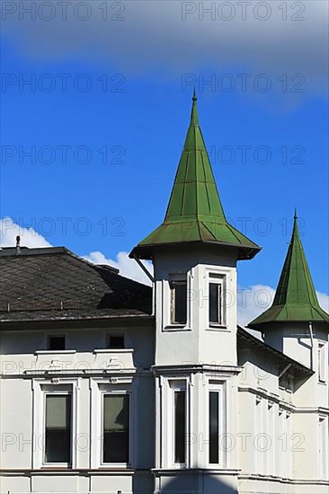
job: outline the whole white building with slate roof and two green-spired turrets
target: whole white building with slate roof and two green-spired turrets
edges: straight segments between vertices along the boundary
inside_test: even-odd
[[[329,318],[298,218],[256,338],[236,267],[259,250],[227,223],[194,96],[164,223],[130,254],[152,289],[0,251],[1,494],[327,494]]]

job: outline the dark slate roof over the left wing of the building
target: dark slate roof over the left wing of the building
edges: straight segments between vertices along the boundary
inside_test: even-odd
[[[65,247],[0,251],[0,323],[145,316],[152,289]]]

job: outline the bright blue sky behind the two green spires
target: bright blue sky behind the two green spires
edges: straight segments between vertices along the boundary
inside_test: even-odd
[[[143,10],[145,3],[139,4]],[[19,23],[6,13],[0,216],[80,255],[101,251],[115,260],[119,252],[130,251],[163,219],[196,84],[200,125],[226,214],[263,247],[253,261],[240,263],[240,285],[276,286],[298,207],[316,289],[327,294],[328,101],[321,51],[327,32],[322,16],[308,11],[307,17],[306,10],[298,28],[296,22],[281,22],[281,28],[280,19],[269,19],[267,34],[262,22],[263,46],[250,32],[233,43],[239,26],[231,21],[227,27],[227,22],[218,40],[221,57],[212,46],[217,34],[207,41],[190,32],[197,26],[207,38],[207,22],[190,19],[191,14],[185,21],[175,17],[171,4],[162,19],[149,13],[147,23],[131,2],[124,3],[127,17],[115,23],[112,38],[100,34],[99,20],[86,21],[83,32],[72,20],[70,34],[60,20]],[[257,22],[251,19],[250,29],[257,30]],[[165,35],[171,23],[173,35]],[[190,44],[182,41],[180,27]],[[314,36],[303,44],[303,32],[312,29]],[[34,85],[22,84],[28,79]],[[86,91],[85,84],[90,85]],[[267,84],[271,89],[264,91]],[[28,151],[35,160],[24,154]]]

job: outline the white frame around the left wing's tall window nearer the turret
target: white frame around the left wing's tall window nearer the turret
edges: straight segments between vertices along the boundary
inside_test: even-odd
[[[128,462],[104,462],[104,448],[103,448],[103,440],[104,440],[104,396],[105,395],[118,395],[118,394],[128,394],[129,395],[129,450],[128,450]],[[113,387],[111,390],[102,390],[101,391],[101,440],[100,440],[100,466],[101,467],[117,467],[117,468],[129,468],[132,464],[132,433],[133,433],[133,420],[132,420],[132,392],[129,389],[118,388],[115,389]]]

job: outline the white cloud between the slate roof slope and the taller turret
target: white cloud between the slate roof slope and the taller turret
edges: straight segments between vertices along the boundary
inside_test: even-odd
[[[113,268],[120,269],[120,275],[126,278],[134,279],[139,283],[145,285],[152,285],[151,280],[147,277],[144,271],[139,268],[136,260],[129,259],[128,252],[121,251],[117,254],[116,260],[107,259],[102,252],[96,251],[84,256],[85,260],[89,260],[94,264],[108,264]],[[143,261],[144,266],[153,274],[152,264],[147,261]]]

